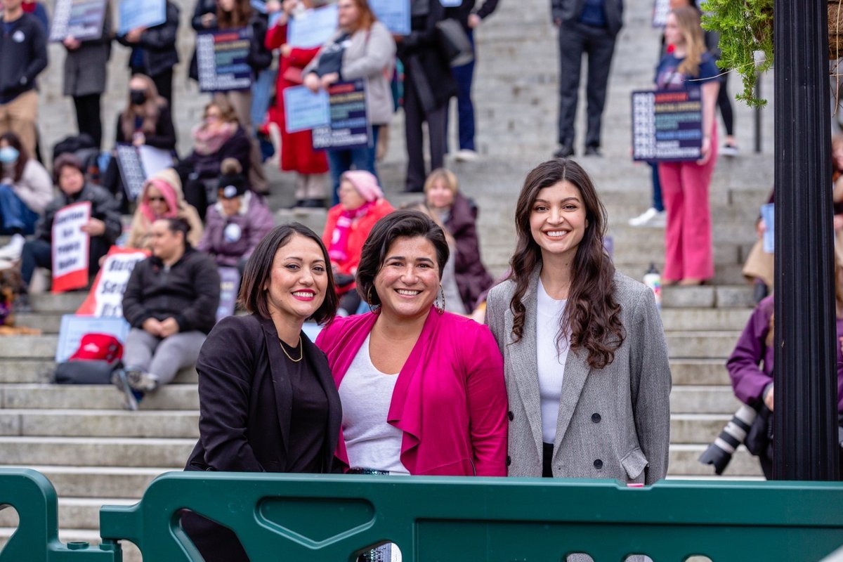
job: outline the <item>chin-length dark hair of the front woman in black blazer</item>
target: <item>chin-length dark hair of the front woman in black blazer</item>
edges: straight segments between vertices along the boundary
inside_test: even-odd
[[[238,302],[247,312],[257,313],[263,318],[270,318],[269,302],[266,299],[264,286],[270,279],[272,262],[275,260],[278,249],[286,246],[296,234],[319,244],[319,249],[322,250],[322,255],[325,258],[325,269],[328,275],[325,302],[322,302],[322,306],[317,308],[311,318],[318,324],[327,324],[336,316],[336,308],[340,304],[340,299],[336,296],[334,274],[330,270],[328,249],[325,248],[325,244],[323,244],[319,235],[298,222],[275,227],[260,240],[255,251],[250,255],[249,261],[246,262],[243,277],[240,281]]]

